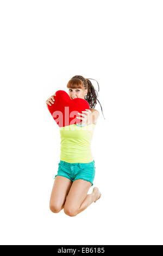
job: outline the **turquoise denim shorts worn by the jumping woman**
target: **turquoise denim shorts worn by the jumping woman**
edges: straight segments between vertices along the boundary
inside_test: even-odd
[[[58,166],[58,173],[55,177],[64,176],[71,181],[82,179],[90,181],[93,186],[96,171],[95,160],[89,163],[68,163],[60,160]]]

